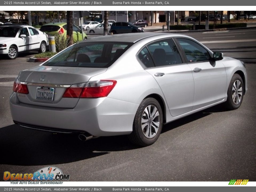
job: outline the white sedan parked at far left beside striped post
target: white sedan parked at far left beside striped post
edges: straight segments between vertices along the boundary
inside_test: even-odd
[[[48,46],[48,35],[29,25],[0,26],[0,54],[15,59],[18,53],[37,50],[45,52]]]

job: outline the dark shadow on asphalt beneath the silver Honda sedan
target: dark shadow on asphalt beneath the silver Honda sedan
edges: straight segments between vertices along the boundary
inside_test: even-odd
[[[213,108],[213,107],[212,107]],[[208,111],[221,111],[221,107]],[[201,111],[163,126],[162,133],[210,115]],[[78,134],[51,133],[10,125],[0,129],[0,164],[53,165],[105,155],[111,151],[137,149],[126,135],[99,137],[83,142]]]

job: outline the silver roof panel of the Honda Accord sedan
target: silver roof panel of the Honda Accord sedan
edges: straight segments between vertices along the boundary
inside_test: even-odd
[[[88,40],[84,40],[82,42],[130,42],[135,43],[142,39],[154,37],[157,35],[167,35],[166,33],[152,33],[152,32],[145,32],[145,33],[127,33],[127,34],[115,34],[115,35],[105,35],[100,37],[93,37]],[[168,37],[187,37],[186,35],[176,34],[176,33],[168,33]]]

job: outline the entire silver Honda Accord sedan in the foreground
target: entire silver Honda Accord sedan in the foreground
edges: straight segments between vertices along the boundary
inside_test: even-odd
[[[154,143],[164,123],[226,102],[247,90],[243,62],[179,34],[91,38],[20,72],[10,108],[15,123],[80,139],[125,135]]]

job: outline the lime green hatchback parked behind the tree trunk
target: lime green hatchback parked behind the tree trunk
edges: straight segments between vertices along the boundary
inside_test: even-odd
[[[48,35],[67,35],[67,23],[47,23],[45,25],[42,25],[40,31],[43,31],[47,33]],[[82,41],[83,39],[87,39],[87,35],[83,33],[82,37],[82,30],[76,26],[73,25],[73,38],[74,41]]]

